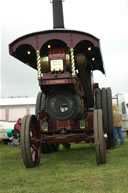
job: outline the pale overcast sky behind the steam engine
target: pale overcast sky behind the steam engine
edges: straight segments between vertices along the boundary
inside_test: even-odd
[[[50,0],[4,0],[1,3],[1,96],[36,96],[36,70],[8,53],[8,44],[37,31],[53,28]],[[90,33],[100,39],[106,76],[94,72],[100,87],[113,95],[128,92],[128,0],[65,0],[66,29]]]

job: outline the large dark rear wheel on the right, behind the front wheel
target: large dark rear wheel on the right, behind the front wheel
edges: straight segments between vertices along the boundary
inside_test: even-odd
[[[112,93],[111,88],[98,88],[95,92],[96,109],[103,111],[103,129],[107,133],[107,149],[114,148],[114,129],[112,115]]]

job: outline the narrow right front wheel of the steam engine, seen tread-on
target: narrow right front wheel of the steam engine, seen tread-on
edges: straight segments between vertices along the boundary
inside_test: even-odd
[[[103,131],[102,110],[94,110],[94,140],[97,164],[106,163],[106,142]]]

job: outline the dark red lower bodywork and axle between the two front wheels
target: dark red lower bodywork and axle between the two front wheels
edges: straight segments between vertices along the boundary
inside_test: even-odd
[[[48,131],[44,131],[42,128],[43,118],[47,118],[47,113],[40,113],[40,132],[43,136],[42,139],[31,139],[37,140],[36,142],[46,143],[46,144],[67,144],[72,142],[81,142],[85,143],[94,143],[93,135],[93,112],[88,113],[88,116],[85,118],[84,124],[85,128],[80,128],[80,120],[49,120],[49,125],[51,128]],[[55,126],[56,125],[56,126]],[[54,134],[54,135],[53,135]]]

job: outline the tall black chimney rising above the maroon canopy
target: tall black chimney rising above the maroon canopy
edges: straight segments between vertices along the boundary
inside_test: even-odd
[[[53,28],[64,28],[63,0],[52,0],[53,3]]]

